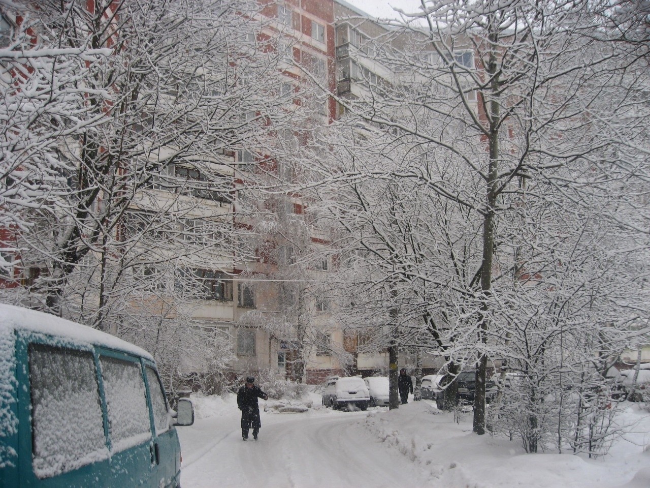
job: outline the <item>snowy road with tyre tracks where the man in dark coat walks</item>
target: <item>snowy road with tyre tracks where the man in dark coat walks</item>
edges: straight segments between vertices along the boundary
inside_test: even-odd
[[[413,488],[424,473],[362,425],[363,412],[262,413],[259,441],[244,442],[239,415],[179,428],[183,488]]]

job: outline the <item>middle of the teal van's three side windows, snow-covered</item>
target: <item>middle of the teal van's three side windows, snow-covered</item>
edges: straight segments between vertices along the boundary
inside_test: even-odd
[[[151,424],[140,363],[105,356],[99,362],[109,411],[112,452],[148,441]]]

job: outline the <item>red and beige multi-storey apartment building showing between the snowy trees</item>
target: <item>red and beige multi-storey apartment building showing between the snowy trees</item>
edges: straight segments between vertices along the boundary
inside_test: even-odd
[[[286,40],[285,47],[279,45],[286,49],[285,66],[278,74],[282,90],[291,93],[304,83],[318,88],[311,92],[309,100],[294,100],[287,106],[287,110],[297,105],[307,107],[311,111],[309,123],[326,125],[344,115],[344,105],[326,96],[326,92],[354,100],[367,94],[369,84],[398,83],[395,74],[376,61],[377,39],[383,42],[388,31],[365,12],[343,0],[260,3],[261,16],[270,22],[265,23],[261,33],[244,33],[244,42],[246,38],[256,42],[270,35]],[[10,38],[12,28],[11,19],[1,18],[0,40]],[[472,62],[467,53],[458,55],[463,62]],[[278,138],[283,136],[278,134]],[[143,197],[134,200],[118,232],[148,236],[148,242],[159,247],[159,262],[165,262],[168,251],[163,243],[169,236],[182,235],[188,252],[177,260],[175,269],[155,263],[133,265],[134,282],[148,280],[155,284],[148,285],[146,303],[128,305],[166,310],[161,312],[161,323],[174,321],[179,315],[190,316],[194,330],[200,332],[197,340],[214,341],[215,355],[224,344],[231,345],[233,354],[227,368],[233,374],[271,370],[298,381],[318,383],[332,373],[343,373],[345,368],[362,372],[387,368],[387,353],[357,353],[363,332],[344,334],[332,313],[337,304],[328,298],[326,290],[318,290],[318,282],[335,266],[335,256],[328,251],[328,236],[305,223],[308,202],[301,195],[275,196],[262,206],[275,213],[289,232],[292,222],[300,222],[302,232],[308,229],[312,251],[321,251],[316,262],[298,263],[296,253],[300,251],[290,245],[291,236],[286,233],[263,237],[245,259],[236,256],[237,251],[229,251],[232,246],[220,247],[214,241],[215,232],[227,234],[231,229],[236,235],[237,228],[254,224],[245,218],[233,219],[233,214],[242,198],[237,189],[259,177],[255,166],[261,159],[268,161],[274,155],[268,154],[268,148],[242,146],[235,151],[216,151],[201,161],[168,165]],[[274,164],[277,172],[283,171],[281,160],[274,160]],[[221,180],[219,189],[211,187],[215,178]],[[171,206],[170,193],[175,201]],[[162,208],[176,215],[173,224],[155,224]],[[3,241],[9,242],[8,230],[2,232]],[[207,240],[208,235],[213,241]],[[3,251],[7,259],[18,257],[10,254]],[[294,273],[296,268],[300,275]],[[37,262],[5,267],[0,286],[29,284],[41,272]],[[187,277],[191,278],[190,286],[200,289],[201,299],[192,297],[174,307],[167,306],[170,291],[177,291],[179,282]],[[117,333],[118,325],[114,327],[112,332]],[[209,355],[210,347],[203,349]],[[205,365],[210,358],[189,354],[178,361],[181,374],[191,375],[207,373]],[[425,359],[424,367],[435,368],[435,364]]]

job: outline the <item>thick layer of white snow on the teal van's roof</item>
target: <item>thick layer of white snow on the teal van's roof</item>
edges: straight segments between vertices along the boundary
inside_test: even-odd
[[[87,325],[55,317],[29,308],[0,303],[0,331],[14,329],[58,336],[75,344],[92,344],[94,346],[118,349],[125,353],[142,356],[153,361],[153,357],[142,347],[98,331]]]

